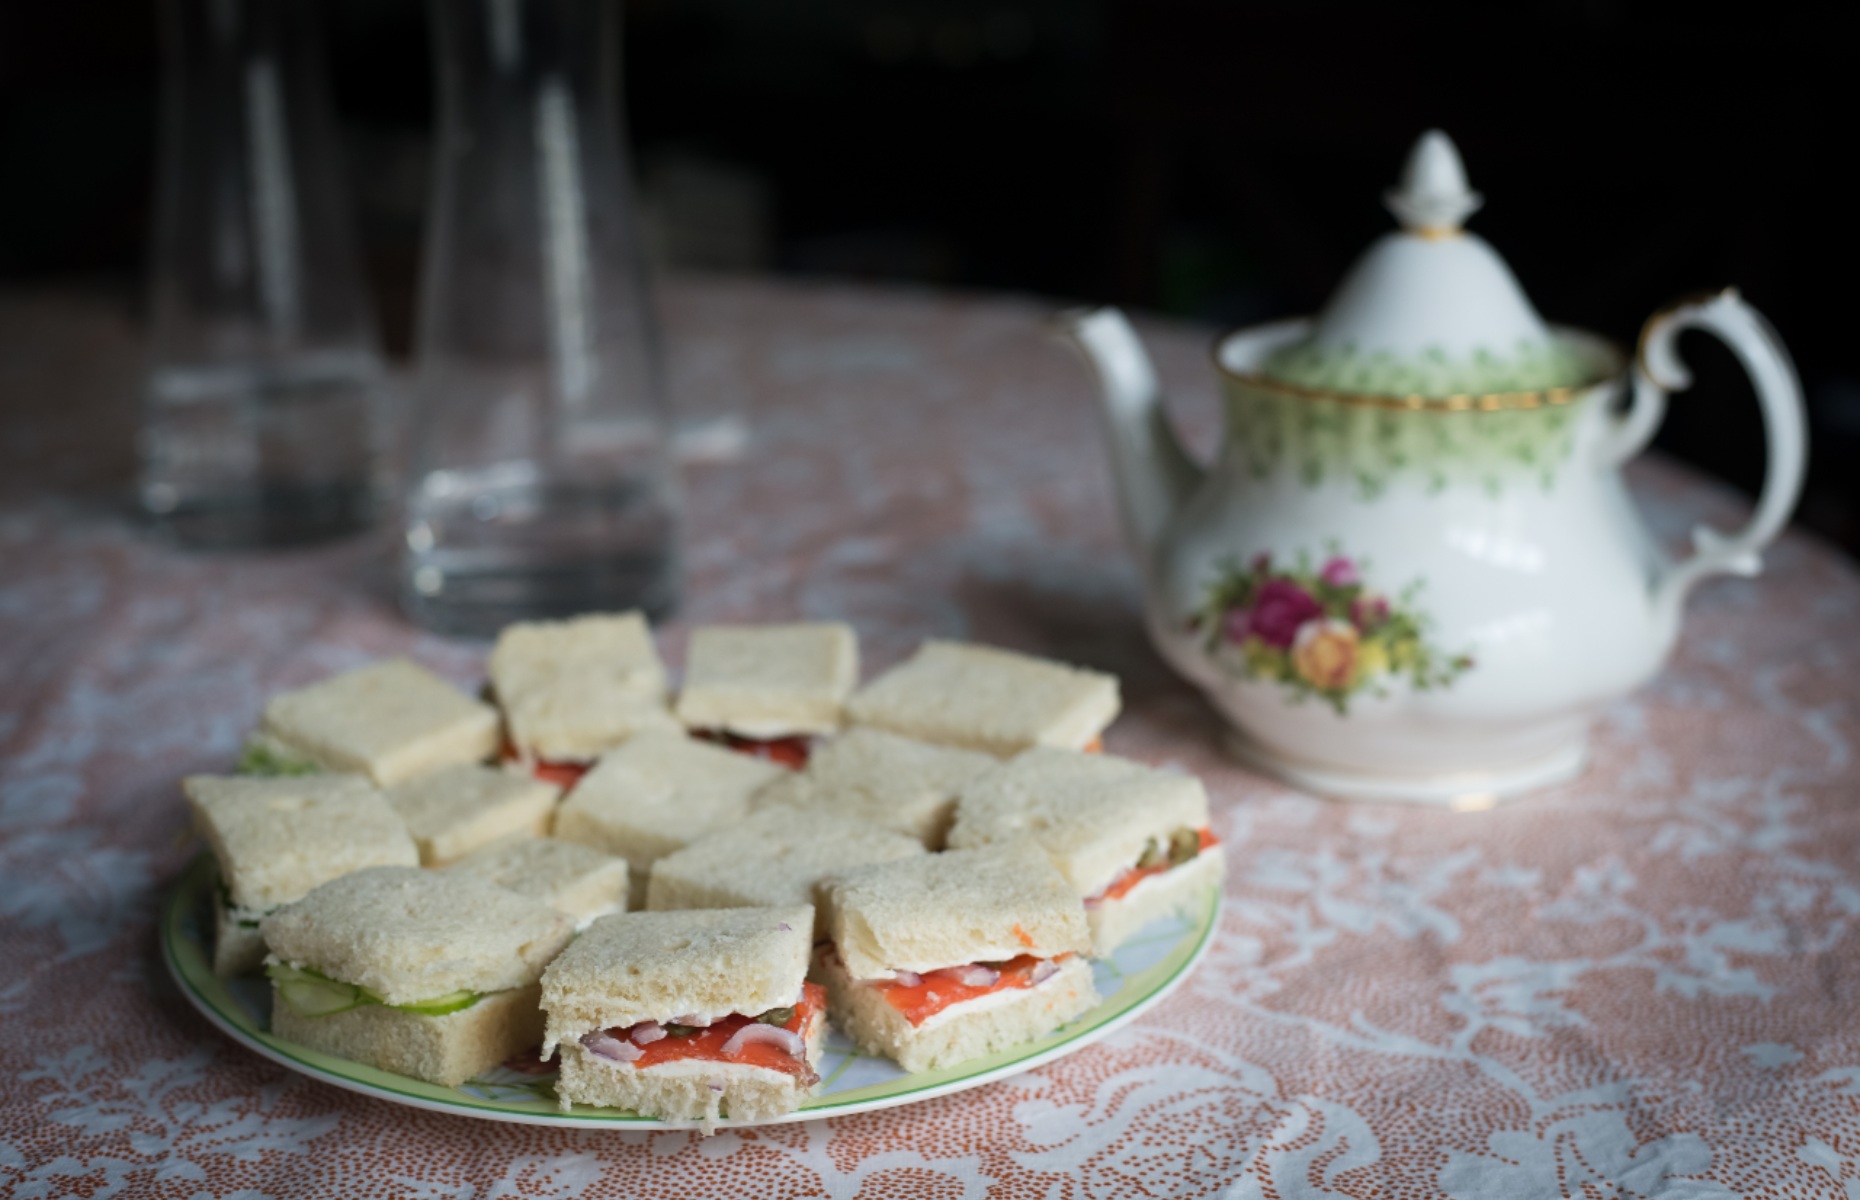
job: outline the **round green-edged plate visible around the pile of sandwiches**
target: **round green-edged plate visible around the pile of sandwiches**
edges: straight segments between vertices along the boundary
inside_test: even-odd
[[[240,1046],[311,1079],[435,1113],[567,1129],[590,1126],[614,1129],[694,1127],[696,1122],[634,1116],[632,1113],[588,1105],[564,1111],[556,1101],[552,1070],[517,1072],[497,1066],[456,1088],[445,1088],[273,1038],[270,1033],[272,986],[262,977],[219,979],[212,971],[216,884],[218,871],[208,856],[195,860],[175,884],[162,912],[162,956],[167,960],[175,982],[180,984],[182,995]],[[725,1118],[716,1124],[729,1127],[872,1113],[982,1087],[1064,1059],[1136,1020],[1176,990],[1207,954],[1218,912],[1220,893],[1209,887],[1194,919],[1155,921],[1118,947],[1116,954],[1094,962],[1092,975],[1097,993],[1105,999],[1090,1012],[1036,1042],[936,1072],[906,1072],[891,1059],[863,1053],[839,1031],[831,1031],[820,1059],[820,1087],[798,1111],[768,1122],[731,1122]]]

